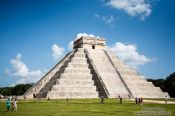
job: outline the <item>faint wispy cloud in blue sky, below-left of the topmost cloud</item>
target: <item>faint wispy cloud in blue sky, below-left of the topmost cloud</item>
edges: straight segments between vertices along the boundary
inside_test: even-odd
[[[94,17],[104,21],[106,24],[110,25],[110,27],[114,27],[115,19],[113,15],[103,16],[103,15],[95,14]]]

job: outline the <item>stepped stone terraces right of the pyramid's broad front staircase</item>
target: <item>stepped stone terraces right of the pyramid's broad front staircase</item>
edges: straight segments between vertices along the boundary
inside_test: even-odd
[[[132,97],[144,98],[164,98],[168,96],[167,92],[162,92],[159,87],[155,87],[152,82],[148,82],[144,76],[139,75],[138,72],[125,65],[113,53],[104,50],[106,56],[111,61],[112,65],[118,71],[123,83],[127,86]]]

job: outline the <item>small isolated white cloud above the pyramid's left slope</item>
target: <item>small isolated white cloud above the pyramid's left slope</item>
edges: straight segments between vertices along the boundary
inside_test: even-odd
[[[55,61],[58,60],[60,56],[62,56],[64,53],[64,48],[58,46],[57,44],[52,45],[52,56]]]

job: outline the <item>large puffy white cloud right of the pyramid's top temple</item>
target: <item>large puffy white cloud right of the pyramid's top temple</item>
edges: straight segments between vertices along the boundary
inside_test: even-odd
[[[138,68],[139,65],[155,61],[155,58],[148,58],[143,54],[139,54],[135,45],[125,45],[121,42],[115,43],[109,50],[114,52],[121,60],[133,68]]]

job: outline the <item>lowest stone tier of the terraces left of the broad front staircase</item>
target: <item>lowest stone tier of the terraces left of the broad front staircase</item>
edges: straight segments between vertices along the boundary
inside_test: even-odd
[[[97,98],[97,92],[48,92],[47,98]]]

